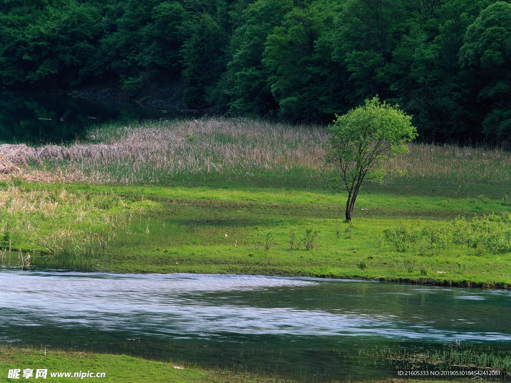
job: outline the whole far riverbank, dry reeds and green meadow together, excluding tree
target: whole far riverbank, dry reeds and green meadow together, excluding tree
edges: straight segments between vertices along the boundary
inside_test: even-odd
[[[1,184],[2,261],[511,286],[509,153],[413,145],[391,164],[408,174],[365,185],[348,224],[322,160],[327,138],[321,127],[189,119],[113,124],[69,146],[2,146],[22,170]]]

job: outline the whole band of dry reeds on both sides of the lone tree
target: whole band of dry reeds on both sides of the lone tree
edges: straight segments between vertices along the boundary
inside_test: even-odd
[[[324,179],[328,130],[244,118],[201,118],[112,124],[67,146],[0,145],[40,182],[156,184],[190,175],[257,177],[288,174]],[[406,180],[508,181],[511,153],[412,143],[410,153],[389,164]],[[16,176],[16,175],[15,175]],[[4,179],[8,175],[2,176]]]

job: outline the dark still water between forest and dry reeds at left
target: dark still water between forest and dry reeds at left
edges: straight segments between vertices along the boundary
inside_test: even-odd
[[[0,91],[0,142],[69,142],[109,121],[175,118],[182,113],[135,103],[60,94]]]

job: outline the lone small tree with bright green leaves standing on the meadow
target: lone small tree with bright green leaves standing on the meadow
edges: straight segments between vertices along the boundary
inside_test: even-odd
[[[365,100],[364,106],[336,116],[328,163],[334,166],[334,181],[346,188],[346,221],[351,221],[360,186],[365,180],[383,180],[393,173],[385,166],[392,157],[408,153],[406,142],[416,136],[411,116],[378,97]],[[394,171],[395,172],[395,171]]]

